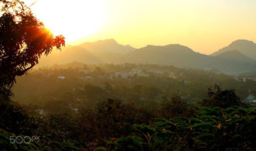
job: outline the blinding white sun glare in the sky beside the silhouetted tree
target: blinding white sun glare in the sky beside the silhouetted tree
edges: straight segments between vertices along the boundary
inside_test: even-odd
[[[30,5],[36,0],[25,0]],[[54,33],[65,36],[67,43],[99,30],[106,22],[106,8],[101,0],[37,0],[30,8]]]

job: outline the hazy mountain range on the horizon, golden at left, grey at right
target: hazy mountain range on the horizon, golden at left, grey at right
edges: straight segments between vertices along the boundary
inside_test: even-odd
[[[205,55],[187,46],[170,44],[148,45],[140,49],[123,46],[114,39],[67,46],[40,60],[40,66],[54,63],[157,63],[196,69],[212,68],[224,74],[242,74],[256,70],[256,44],[239,39],[213,53]]]

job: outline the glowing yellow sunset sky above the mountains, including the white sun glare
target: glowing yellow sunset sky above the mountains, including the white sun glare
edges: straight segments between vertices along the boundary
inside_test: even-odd
[[[235,39],[255,42],[255,8],[255,0],[37,0],[31,6],[70,44],[113,38],[137,48],[180,43],[206,54]]]

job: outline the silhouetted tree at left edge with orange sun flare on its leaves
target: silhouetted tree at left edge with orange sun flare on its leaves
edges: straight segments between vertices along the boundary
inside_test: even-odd
[[[16,76],[25,74],[56,46],[64,36],[54,36],[24,2],[0,1],[0,94],[9,96]]]

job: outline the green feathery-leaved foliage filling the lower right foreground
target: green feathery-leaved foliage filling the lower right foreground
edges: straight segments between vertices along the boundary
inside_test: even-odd
[[[199,108],[195,118],[159,119],[133,125],[131,136],[110,141],[117,150],[255,149],[256,108]],[[135,143],[136,142],[136,143]]]

